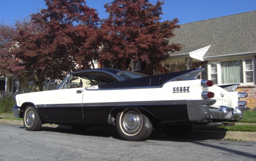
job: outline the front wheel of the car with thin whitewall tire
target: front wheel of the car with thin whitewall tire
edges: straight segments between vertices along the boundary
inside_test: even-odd
[[[33,106],[27,106],[23,116],[23,124],[28,131],[38,131],[42,126],[42,121],[37,110]]]

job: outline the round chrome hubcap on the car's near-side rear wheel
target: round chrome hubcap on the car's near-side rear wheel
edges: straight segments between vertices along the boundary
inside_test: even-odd
[[[141,118],[138,112],[128,111],[124,114],[123,126],[127,132],[137,132],[141,126]]]

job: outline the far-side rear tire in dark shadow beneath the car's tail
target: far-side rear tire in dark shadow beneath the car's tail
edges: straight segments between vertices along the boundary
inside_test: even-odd
[[[166,125],[162,131],[169,137],[185,137],[190,134],[192,125]]]

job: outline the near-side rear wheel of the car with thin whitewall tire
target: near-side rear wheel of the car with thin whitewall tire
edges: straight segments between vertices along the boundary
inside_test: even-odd
[[[152,130],[153,127],[147,115],[137,109],[125,109],[117,113],[117,131],[125,140],[147,139]]]

